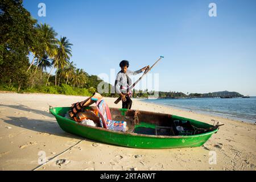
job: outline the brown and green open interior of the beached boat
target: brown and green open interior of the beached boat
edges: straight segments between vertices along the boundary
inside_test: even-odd
[[[95,106],[88,108],[96,109]],[[112,107],[109,109],[113,120],[126,121],[128,128],[126,133],[177,136],[207,133],[218,128],[217,125],[213,126],[171,114]]]

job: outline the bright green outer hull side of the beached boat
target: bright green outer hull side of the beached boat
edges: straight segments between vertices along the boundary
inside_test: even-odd
[[[61,129],[68,133],[79,135],[80,137],[123,147],[151,149],[199,147],[207,142],[212,134],[218,131],[218,129],[216,129],[204,134],[187,136],[156,136],[126,133],[121,131],[112,131],[101,127],[81,125],[80,123],[62,116],[64,113],[67,113],[68,110],[69,107],[54,107],[49,109],[49,111],[55,116]],[[122,110],[120,112],[123,113]]]

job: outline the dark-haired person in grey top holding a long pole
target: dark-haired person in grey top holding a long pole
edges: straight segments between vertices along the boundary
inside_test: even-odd
[[[133,104],[133,101],[131,101],[130,98],[131,92],[127,93],[127,89],[132,84],[129,75],[137,75],[142,73],[144,70],[149,68],[149,65],[135,72],[127,69],[129,67],[129,61],[127,60],[122,60],[119,63],[119,66],[121,71],[117,73],[117,78],[115,78],[115,92],[117,92],[122,99],[122,108],[131,109],[131,105]]]

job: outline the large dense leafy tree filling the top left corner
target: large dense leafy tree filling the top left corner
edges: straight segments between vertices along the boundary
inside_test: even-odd
[[[0,81],[24,88],[28,82],[28,52],[36,31],[35,19],[23,8],[22,1],[2,0],[0,3]]]

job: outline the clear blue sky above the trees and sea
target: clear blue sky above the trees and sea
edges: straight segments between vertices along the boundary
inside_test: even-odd
[[[38,16],[41,2],[46,17]],[[211,2],[217,17],[208,15]],[[58,37],[67,36],[71,61],[89,74],[110,77],[110,69],[116,74],[124,59],[135,71],[163,55],[151,71],[159,74],[159,90],[256,96],[254,0],[24,0],[23,5]]]

